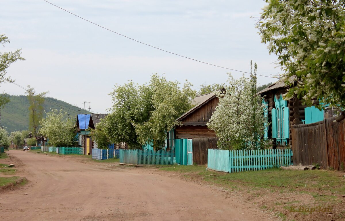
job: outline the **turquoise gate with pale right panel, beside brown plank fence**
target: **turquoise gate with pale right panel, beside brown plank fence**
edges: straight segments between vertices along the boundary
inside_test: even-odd
[[[175,160],[179,165],[193,165],[192,139],[175,139]]]

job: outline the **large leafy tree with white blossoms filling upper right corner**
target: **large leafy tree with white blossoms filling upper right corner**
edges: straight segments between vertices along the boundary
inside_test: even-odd
[[[283,77],[296,77],[296,95],[345,107],[345,1],[266,0],[257,23],[269,53],[278,56]],[[321,107],[319,107],[321,108]],[[344,113],[342,114],[344,118]]]

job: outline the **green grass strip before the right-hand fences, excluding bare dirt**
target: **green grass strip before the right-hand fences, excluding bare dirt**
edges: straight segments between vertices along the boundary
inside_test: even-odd
[[[203,178],[204,181],[219,184],[228,189],[234,186],[244,186],[253,190],[268,189],[281,193],[304,191],[312,194],[313,191],[329,191],[329,193],[345,194],[345,179],[337,172],[309,170],[290,171],[279,168],[266,169],[262,171],[245,171],[238,173],[220,173],[211,170],[206,171],[205,166],[184,166],[184,165],[155,165],[162,171],[173,171],[194,174]],[[315,196],[320,200],[324,196]],[[324,197],[326,200],[334,200],[333,197]]]

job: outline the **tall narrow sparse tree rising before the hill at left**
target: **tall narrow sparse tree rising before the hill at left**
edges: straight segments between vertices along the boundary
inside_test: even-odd
[[[45,101],[44,96],[48,93],[48,91],[36,94],[35,89],[28,85],[28,90],[25,93],[28,94],[28,100],[30,103],[29,130],[36,137],[39,121],[43,117],[43,103]]]

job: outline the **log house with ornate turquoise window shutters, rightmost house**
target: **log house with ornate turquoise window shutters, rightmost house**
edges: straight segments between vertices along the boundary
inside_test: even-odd
[[[290,77],[290,84],[297,85],[294,77]],[[297,97],[290,100],[283,99],[289,89],[282,80],[279,80],[267,88],[259,91],[258,94],[263,96],[262,103],[264,108],[264,116],[268,118],[270,123],[265,129],[264,137],[273,139],[273,148],[284,148],[292,145],[291,126],[299,124],[309,124],[324,119],[324,110],[318,110],[314,106],[308,107],[302,105]],[[317,104],[318,101],[314,101]],[[326,107],[327,105],[324,105]]]

